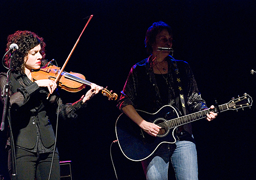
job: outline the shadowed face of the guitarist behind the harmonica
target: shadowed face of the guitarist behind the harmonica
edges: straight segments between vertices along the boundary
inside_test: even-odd
[[[166,29],[156,35],[155,42],[152,44],[153,52],[156,52],[158,48],[171,48],[172,47],[172,36],[169,35]],[[166,52],[168,53],[168,52]]]

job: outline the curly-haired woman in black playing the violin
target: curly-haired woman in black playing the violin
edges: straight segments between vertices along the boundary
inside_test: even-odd
[[[32,79],[32,70],[38,70],[45,57],[46,44],[43,38],[30,31],[17,31],[7,38],[6,52],[13,43],[19,49],[15,50],[13,57],[8,115],[13,129],[17,178],[48,179],[54,154],[51,179],[60,179],[59,153],[57,150],[53,153],[55,134],[50,120],[56,119],[57,113],[61,119],[76,119],[76,110],[85,107],[86,102],[102,87],[92,83],[89,91],[79,101],[63,104],[55,91],[57,84],[53,80]],[[10,63],[9,57],[10,53],[5,57],[7,66]],[[1,92],[6,83],[7,75],[2,72]],[[3,97],[1,100],[3,102]],[[9,145],[10,141],[7,142],[7,147]],[[11,164],[9,172],[11,173]]]

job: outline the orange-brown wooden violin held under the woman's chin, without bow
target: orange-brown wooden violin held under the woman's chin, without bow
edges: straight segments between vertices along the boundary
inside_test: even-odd
[[[40,79],[51,79],[56,80],[59,75],[60,67],[52,65],[48,62],[45,66],[41,67],[39,70],[34,70],[31,72],[33,80]],[[86,85],[91,85],[92,83],[85,80],[85,76],[76,72],[65,72],[62,71],[57,85],[68,92],[79,92],[81,89],[85,88]],[[118,95],[112,93],[113,91],[108,91],[106,88],[101,90],[104,96],[107,96],[109,100],[117,100]]]

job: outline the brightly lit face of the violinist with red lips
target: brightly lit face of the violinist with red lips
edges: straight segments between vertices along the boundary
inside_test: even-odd
[[[42,55],[40,54],[41,45],[35,46],[28,52],[28,55],[24,57],[25,68],[27,70],[37,70],[40,68]]]

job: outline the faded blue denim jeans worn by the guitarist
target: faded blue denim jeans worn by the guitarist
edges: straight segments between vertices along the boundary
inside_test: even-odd
[[[196,145],[185,140],[161,144],[154,155],[142,161],[142,166],[147,180],[167,180],[169,168],[174,169],[177,180],[197,180]]]

